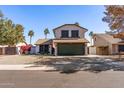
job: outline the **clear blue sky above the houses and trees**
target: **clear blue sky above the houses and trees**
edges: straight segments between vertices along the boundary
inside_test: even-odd
[[[32,38],[34,43],[39,38],[44,38],[44,29],[50,30],[49,38],[54,38],[53,28],[63,24],[78,22],[82,27],[89,31],[86,38],[89,39],[89,32],[103,33],[108,29],[107,23],[102,22],[104,17],[104,6],[98,5],[30,5],[30,6],[0,6],[0,10],[5,17],[12,19],[14,23],[22,24],[25,28],[24,35],[26,42],[29,43],[28,31],[34,30]]]

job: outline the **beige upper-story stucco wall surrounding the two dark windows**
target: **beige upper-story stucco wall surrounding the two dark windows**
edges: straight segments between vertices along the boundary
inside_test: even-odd
[[[79,30],[79,37],[84,38],[84,34],[86,32],[85,29],[81,29],[78,26],[71,26],[71,25],[66,25],[61,28],[58,28],[55,30],[55,38],[61,38],[61,30],[69,30],[69,37],[71,37],[71,30]]]

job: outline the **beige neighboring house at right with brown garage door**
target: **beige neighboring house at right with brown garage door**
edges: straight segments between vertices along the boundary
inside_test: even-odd
[[[114,38],[110,34],[94,34],[94,46],[97,55],[118,54],[119,51],[124,52],[124,43],[121,39]]]

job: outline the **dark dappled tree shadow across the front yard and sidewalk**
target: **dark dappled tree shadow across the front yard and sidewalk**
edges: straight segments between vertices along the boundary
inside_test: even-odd
[[[47,58],[45,61],[42,57],[39,59],[41,60],[34,62],[34,65],[29,66],[29,68],[48,66],[53,67],[56,71],[60,71],[60,73],[66,74],[75,73],[77,71],[90,71],[93,73],[99,73],[107,70],[124,71],[124,59],[121,61],[112,58],[100,57]]]

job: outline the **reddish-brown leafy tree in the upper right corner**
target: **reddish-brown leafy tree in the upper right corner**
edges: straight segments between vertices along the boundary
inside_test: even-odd
[[[105,6],[105,17],[102,19],[108,23],[112,31],[117,33],[124,31],[124,5],[109,5]]]

